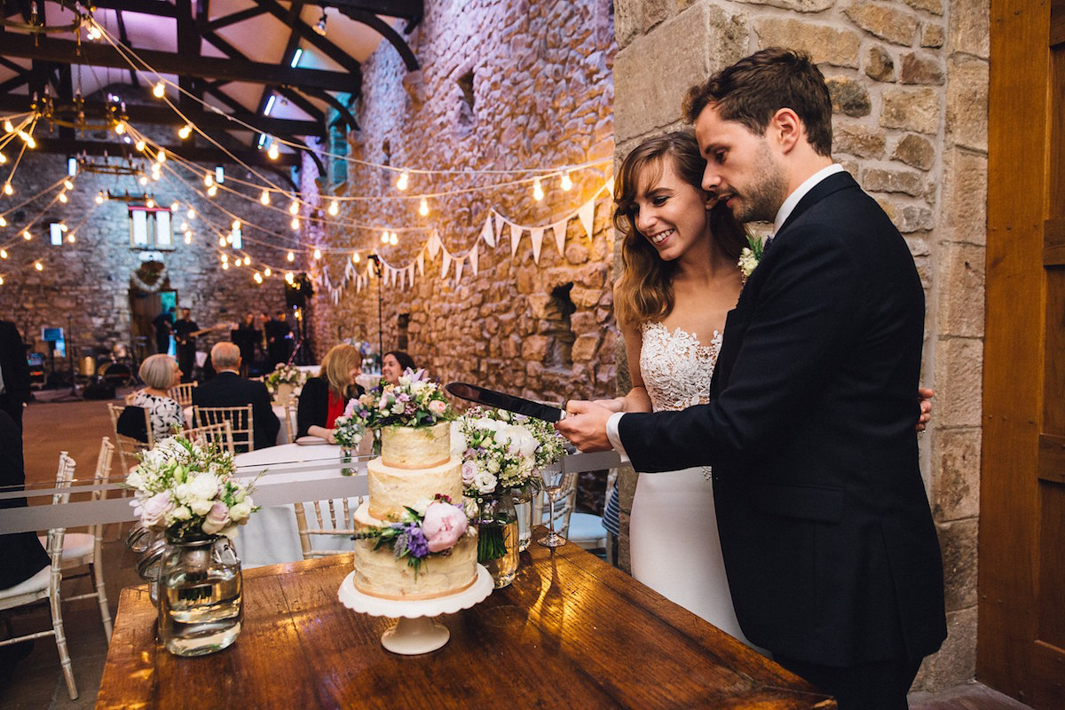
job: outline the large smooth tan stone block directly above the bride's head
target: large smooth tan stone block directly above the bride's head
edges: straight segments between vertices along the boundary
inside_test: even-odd
[[[747,54],[746,39],[741,17],[705,4],[634,38],[613,65],[617,141],[676,122],[688,88]]]

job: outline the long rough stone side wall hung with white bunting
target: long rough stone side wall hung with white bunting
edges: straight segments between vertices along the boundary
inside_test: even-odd
[[[417,365],[442,381],[556,401],[612,396],[613,233],[603,192],[615,147],[611,10],[609,0],[430,1],[408,37],[421,71],[409,73],[387,44],[374,52],[355,106],[361,130],[348,135],[349,158],[372,165],[349,164],[340,184],[312,184],[305,170],[305,187],[321,193],[310,198],[321,199],[320,210],[341,198],[337,217],[322,212],[324,229],[305,232],[308,248],[323,250],[311,265],[316,358],[342,339],[376,346],[380,329],[386,351],[406,336]],[[555,175],[543,181],[544,199],[532,198],[529,170],[584,164],[572,172],[572,189],[562,191]],[[396,172],[379,165],[412,170],[406,193],[395,188]],[[496,183],[510,184],[485,188]],[[546,227],[596,195],[591,238],[571,219],[561,252],[552,231],[544,235],[539,263],[528,231],[513,255],[506,228],[494,247],[478,240],[491,210]],[[398,245],[382,245],[382,230],[396,232]],[[478,245],[477,274],[466,260],[461,279],[454,262],[442,278],[444,252],[426,246],[433,231],[456,257]],[[374,251],[398,267],[422,253],[424,270],[413,286],[348,282],[333,302],[323,277],[335,286],[353,253],[363,271]]]

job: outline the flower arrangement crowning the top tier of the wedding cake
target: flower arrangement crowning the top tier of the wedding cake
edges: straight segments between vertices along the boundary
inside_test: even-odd
[[[397,384],[359,397],[358,414],[371,429],[382,427],[431,427],[455,418],[440,384],[429,381],[424,369],[407,368]]]

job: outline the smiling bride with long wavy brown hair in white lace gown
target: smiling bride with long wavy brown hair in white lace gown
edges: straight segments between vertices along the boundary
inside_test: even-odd
[[[679,131],[640,144],[619,170],[613,221],[625,236],[613,302],[633,387],[596,402],[612,411],[709,400],[725,317],[743,287],[738,260],[747,233],[702,189],[705,165],[694,135]],[[919,431],[933,394],[918,391]],[[709,474],[702,466],[639,475],[629,519],[633,576],[751,645],[733,610]]]

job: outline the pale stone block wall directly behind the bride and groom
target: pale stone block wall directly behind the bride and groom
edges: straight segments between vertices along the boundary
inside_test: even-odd
[[[910,244],[925,287],[921,443],[950,635],[915,688],[972,678],[987,176],[986,0],[617,0],[616,141],[679,125],[688,86],[757,49],[808,51],[829,81],[835,159]],[[623,353],[619,360],[623,359]],[[619,363],[619,389],[627,384]],[[635,477],[623,473],[623,525]],[[625,549],[625,541],[622,541]],[[624,556],[623,556],[624,560]]]

